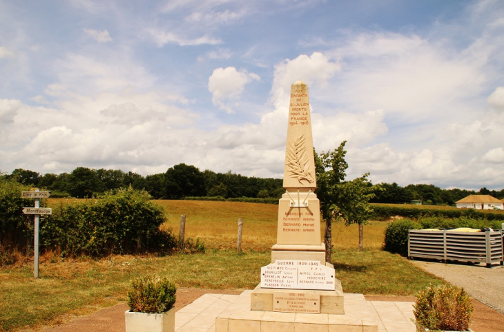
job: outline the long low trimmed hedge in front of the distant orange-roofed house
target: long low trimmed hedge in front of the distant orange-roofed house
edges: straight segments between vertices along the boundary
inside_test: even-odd
[[[478,211],[475,209],[446,209],[436,207],[411,207],[405,205],[400,207],[397,205],[379,205],[373,204],[374,216],[376,220],[385,220],[392,216],[402,216],[404,218],[418,219],[421,217],[442,217],[442,218],[476,218],[485,220],[503,220],[504,211]]]

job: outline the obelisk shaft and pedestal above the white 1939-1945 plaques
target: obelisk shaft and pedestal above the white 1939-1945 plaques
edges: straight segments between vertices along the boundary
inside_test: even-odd
[[[325,245],[320,240],[320,202],[317,188],[313,140],[311,138],[308,86],[291,85],[284,189],[278,204],[277,242],[271,262],[279,259],[318,260],[325,264]]]

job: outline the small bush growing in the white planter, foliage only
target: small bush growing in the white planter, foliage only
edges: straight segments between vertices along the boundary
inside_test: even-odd
[[[155,275],[131,281],[128,307],[135,313],[164,313],[173,308],[177,287],[167,278]]]

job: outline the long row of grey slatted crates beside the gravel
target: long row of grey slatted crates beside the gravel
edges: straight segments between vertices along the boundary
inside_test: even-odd
[[[503,231],[409,231],[408,257],[503,263]]]

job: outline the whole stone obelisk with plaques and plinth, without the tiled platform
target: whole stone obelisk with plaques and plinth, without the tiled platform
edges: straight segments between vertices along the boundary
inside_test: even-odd
[[[320,239],[320,202],[307,84],[291,85],[277,242],[251,294],[252,311],[343,314],[343,292]],[[295,304],[294,304],[295,303]]]

